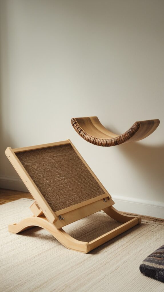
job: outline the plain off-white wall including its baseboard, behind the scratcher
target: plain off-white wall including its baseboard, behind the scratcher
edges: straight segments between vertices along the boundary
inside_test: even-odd
[[[160,0],[1,1],[1,187],[23,189],[6,147],[70,138],[116,207],[164,218],[163,15]],[[70,124],[84,116],[118,134],[160,125],[141,142],[98,147]]]

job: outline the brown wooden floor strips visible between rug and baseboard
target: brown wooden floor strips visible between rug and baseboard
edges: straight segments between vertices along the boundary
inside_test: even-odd
[[[0,205],[6,204],[11,201],[19,200],[21,198],[27,198],[27,199],[33,199],[32,195],[30,193],[26,192],[20,192],[20,191],[14,191],[14,190],[6,190],[6,189],[0,189]],[[123,212],[125,213],[125,212]],[[150,220],[155,222],[162,222],[164,219],[155,218],[155,217],[147,217],[143,216],[141,214],[133,214],[133,213],[125,213],[127,215],[140,215],[143,220]]]

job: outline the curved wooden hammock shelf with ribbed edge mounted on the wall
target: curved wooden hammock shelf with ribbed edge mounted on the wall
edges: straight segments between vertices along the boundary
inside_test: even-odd
[[[158,119],[137,121],[122,135],[108,131],[98,117],[72,118],[75,131],[86,141],[98,146],[116,146],[122,143],[136,142],[153,133],[158,127]]]

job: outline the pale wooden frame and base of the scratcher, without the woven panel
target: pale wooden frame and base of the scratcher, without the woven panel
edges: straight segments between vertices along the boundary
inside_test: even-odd
[[[51,207],[49,206],[49,204],[47,203],[47,201],[45,200],[37,186],[34,184],[32,178],[27,173],[27,171],[25,170],[25,168],[23,167],[15,153],[65,144],[70,144],[72,146],[73,150],[80,157],[80,159],[87,167],[89,172],[92,174],[92,176],[95,178],[97,183],[101,186],[102,190],[104,191],[104,194],[83,201],[79,204],[69,206],[62,210],[53,212],[53,210],[51,209]],[[111,195],[103,187],[101,182],[98,180],[98,178],[93,173],[91,168],[89,168],[87,163],[84,161],[84,159],[82,158],[82,156],[80,155],[80,153],[77,151],[77,149],[70,140],[15,149],[11,149],[11,147],[8,147],[5,151],[5,154],[35,200],[32,206],[30,207],[33,216],[22,220],[20,223],[17,224],[14,223],[12,225],[9,225],[8,230],[10,232],[18,233],[33,226],[39,226],[48,230],[54,237],[56,237],[56,239],[58,239],[58,241],[60,241],[67,248],[75,251],[80,251],[83,253],[88,253],[89,251],[99,246],[100,244],[103,244],[104,242],[112,239],[118,234],[141,223],[141,217],[127,216],[113,208],[114,201],[112,200]],[[106,234],[103,234],[102,236],[94,239],[91,242],[78,241],[70,237],[70,235],[68,235],[62,229],[63,226],[75,222],[93,213],[96,213],[97,211],[100,210],[103,210],[111,218],[123,224],[115,228],[114,230],[107,232]]]

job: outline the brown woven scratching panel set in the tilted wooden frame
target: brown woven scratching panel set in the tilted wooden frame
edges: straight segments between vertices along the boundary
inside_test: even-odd
[[[71,145],[16,155],[54,212],[104,194]]]

